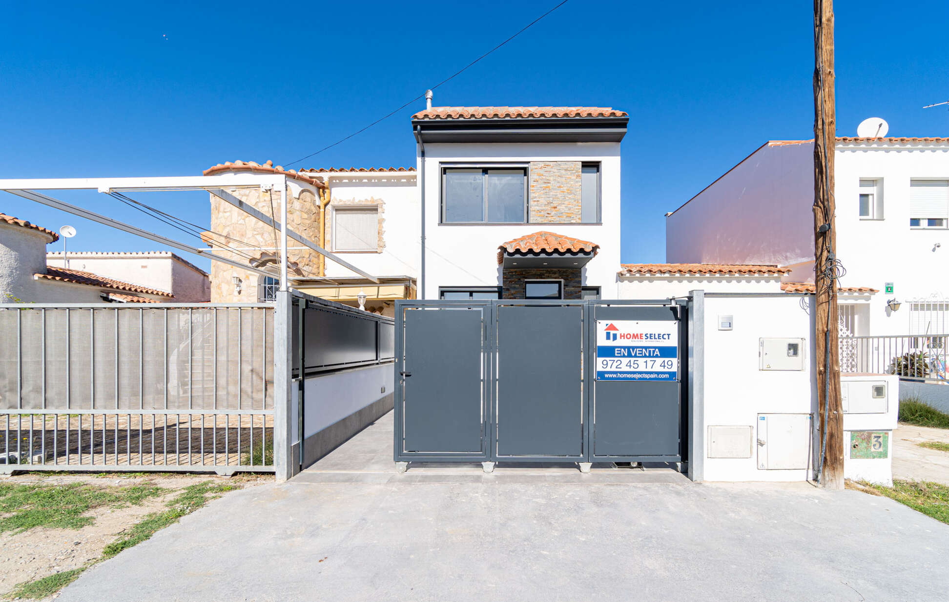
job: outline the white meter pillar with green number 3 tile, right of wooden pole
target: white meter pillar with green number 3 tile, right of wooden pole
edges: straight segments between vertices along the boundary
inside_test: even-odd
[[[893,483],[893,429],[900,413],[900,380],[894,374],[841,374],[844,410],[844,476]]]

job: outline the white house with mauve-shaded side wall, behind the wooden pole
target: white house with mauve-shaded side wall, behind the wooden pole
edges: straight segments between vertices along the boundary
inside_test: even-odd
[[[834,161],[846,331],[945,333],[949,138],[838,137]],[[785,290],[812,290],[813,198],[813,140],[766,142],[666,215],[666,260],[780,265]]]

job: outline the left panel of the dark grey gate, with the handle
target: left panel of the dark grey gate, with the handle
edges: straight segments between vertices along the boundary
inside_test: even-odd
[[[399,452],[483,455],[488,306],[404,309]],[[397,436],[399,429],[396,429]]]

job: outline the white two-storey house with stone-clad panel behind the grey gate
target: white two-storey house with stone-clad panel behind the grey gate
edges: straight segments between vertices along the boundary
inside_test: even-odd
[[[628,119],[601,107],[415,114],[423,297],[615,298]]]

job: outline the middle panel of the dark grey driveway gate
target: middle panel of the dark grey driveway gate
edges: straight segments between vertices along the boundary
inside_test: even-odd
[[[584,455],[584,306],[498,305],[497,456]]]

